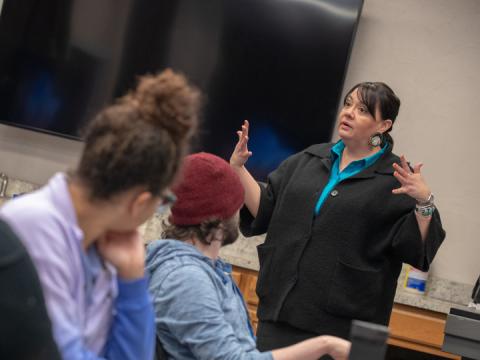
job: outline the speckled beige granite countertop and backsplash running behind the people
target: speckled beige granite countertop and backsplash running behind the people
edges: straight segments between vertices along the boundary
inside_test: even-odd
[[[0,206],[13,194],[30,192],[38,186],[19,180],[10,180],[7,188],[7,198],[0,198]],[[154,215],[140,231],[145,242],[150,242],[161,237],[162,222],[167,215]],[[238,267],[258,271],[257,245],[264,241],[264,236],[240,238],[232,245],[224,247],[220,256],[227,262]],[[427,289],[424,295],[410,293],[403,288],[405,278],[405,266],[398,278],[395,302],[398,304],[410,305],[422,309],[448,313],[450,307],[467,305],[470,301],[473,285],[463,284],[447,279],[430,276],[427,281]]]

